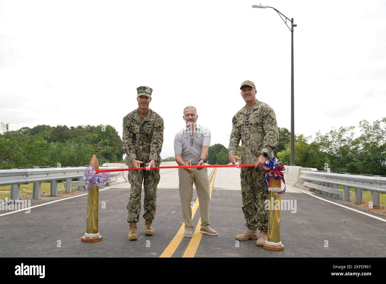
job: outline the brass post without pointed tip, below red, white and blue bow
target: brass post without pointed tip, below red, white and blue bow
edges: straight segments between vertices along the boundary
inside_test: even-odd
[[[275,179],[274,177],[269,177],[269,186],[281,188],[281,180]],[[270,191],[268,209],[268,241],[273,241],[275,243],[280,242],[280,202],[281,195],[276,194],[275,191]],[[275,206],[275,204],[277,205]],[[263,248],[266,250],[279,251],[284,250],[284,245],[274,246],[264,243]]]

